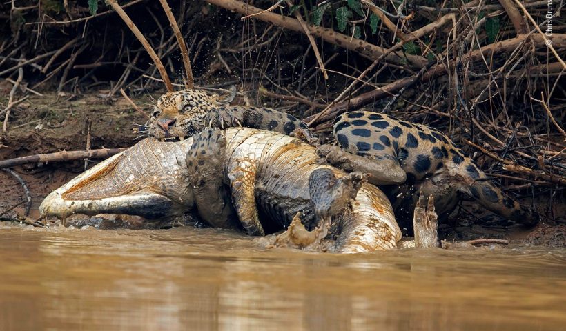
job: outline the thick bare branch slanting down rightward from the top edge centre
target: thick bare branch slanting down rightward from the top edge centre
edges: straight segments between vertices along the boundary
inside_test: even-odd
[[[239,12],[240,14],[254,14],[257,13],[253,18],[260,19],[262,21],[266,21],[268,23],[274,24],[275,26],[280,26],[282,28],[286,28],[288,30],[293,30],[295,32],[304,32],[302,30],[302,26],[297,21],[297,19],[292,19],[291,17],[284,17],[280,14],[273,14],[272,12],[262,12],[260,8],[256,8],[253,6],[249,6],[248,4],[237,1],[237,0],[205,0],[208,3],[212,3],[213,5],[226,8],[228,10],[234,10],[235,12]],[[324,41],[328,43],[332,43],[334,45],[341,46],[343,48],[347,48],[348,50],[352,50],[354,52],[358,52],[363,57],[367,57],[368,59],[378,59],[380,55],[384,54],[386,50],[379,46],[375,46],[371,43],[363,41],[361,39],[355,39],[345,34],[340,34],[335,32],[329,28],[321,28],[320,26],[313,26],[312,24],[306,24],[309,28],[309,31],[313,35],[313,37],[318,37],[324,39]],[[423,57],[418,57],[416,55],[404,54],[404,57],[407,57],[407,60],[418,68],[422,68],[426,65],[427,59]],[[400,57],[398,54],[388,54],[385,58],[387,61],[391,61],[393,63],[404,64],[404,57]]]

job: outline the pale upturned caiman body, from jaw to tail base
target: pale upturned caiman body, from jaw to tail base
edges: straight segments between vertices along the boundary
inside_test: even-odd
[[[201,211],[212,208],[206,217],[219,217],[209,222],[213,225],[234,227],[235,213],[246,229],[262,229],[262,222],[273,221],[282,228],[297,212],[302,212],[304,223],[315,221],[309,191],[313,172],[330,170],[336,183],[347,176],[330,165],[318,164],[315,148],[293,137],[249,128],[205,132],[179,142],[141,141],[52,192],[41,203],[40,212],[57,217],[117,213],[157,218],[195,209],[202,216],[206,212]],[[202,159],[203,150],[213,156],[212,161]],[[215,170],[206,166],[218,160]],[[211,180],[216,190],[207,186],[206,177],[199,177],[204,170],[220,174],[221,181]],[[222,196],[220,184],[228,188],[231,199]],[[351,191],[345,184],[339,186],[339,190]],[[333,194],[328,195],[331,201]],[[335,252],[393,249],[401,238],[391,203],[368,183],[359,183],[351,207],[333,214],[332,219]]]

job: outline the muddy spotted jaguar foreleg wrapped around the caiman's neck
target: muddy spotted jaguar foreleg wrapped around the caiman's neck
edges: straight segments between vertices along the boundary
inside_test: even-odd
[[[237,228],[230,193],[222,181],[226,138],[222,134],[214,134],[213,130],[206,130],[193,139],[185,161],[199,215],[216,228]]]

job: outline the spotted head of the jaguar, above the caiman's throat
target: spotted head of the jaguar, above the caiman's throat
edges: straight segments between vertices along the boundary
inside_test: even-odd
[[[168,92],[157,99],[146,133],[161,141],[182,141],[200,132],[208,112],[225,106],[234,96],[235,90],[222,96],[199,90]]]

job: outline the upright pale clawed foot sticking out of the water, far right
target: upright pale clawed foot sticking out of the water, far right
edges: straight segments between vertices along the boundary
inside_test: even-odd
[[[431,195],[427,201],[427,198],[421,192],[413,216],[415,248],[440,247],[437,219],[433,196]]]

